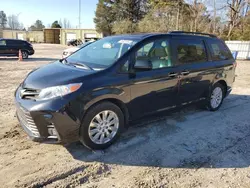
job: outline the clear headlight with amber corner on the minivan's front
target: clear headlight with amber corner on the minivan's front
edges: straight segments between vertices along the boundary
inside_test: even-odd
[[[81,87],[81,83],[54,86],[42,89],[38,95],[38,100],[47,100],[55,97],[62,97],[77,91]]]

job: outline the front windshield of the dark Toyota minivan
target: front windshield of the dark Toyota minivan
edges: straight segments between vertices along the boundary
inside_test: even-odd
[[[127,52],[137,40],[125,37],[107,37],[81,48],[66,60],[92,68],[107,68]]]

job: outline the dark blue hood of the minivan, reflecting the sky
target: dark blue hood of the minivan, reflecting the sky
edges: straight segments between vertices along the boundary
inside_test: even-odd
[[[56,61],[30,72],[25,78],[22,87],[43,89],[51,86],[81,82],[80,78],[95,72],[94,70],[75,68]]]

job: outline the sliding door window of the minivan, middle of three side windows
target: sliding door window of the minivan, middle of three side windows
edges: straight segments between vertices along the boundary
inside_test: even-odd
[[[207,61],[206,49],[201,40],[178,40],[176,48],[177,59],[181,64]]]

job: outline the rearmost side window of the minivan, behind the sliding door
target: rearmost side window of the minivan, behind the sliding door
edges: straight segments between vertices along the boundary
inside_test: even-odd
[[[211,57],[214,61],[233,59],[231,52],[226,45],[219,40],[209,40],[208,45],[211,50]]]

